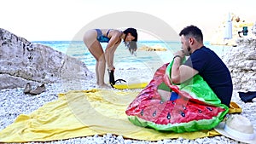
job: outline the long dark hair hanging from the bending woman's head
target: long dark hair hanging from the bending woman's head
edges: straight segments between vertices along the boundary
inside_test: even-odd
[[[137,30],[135,28],[127,28],[124,31],[124,33],[125,33],[125,38],[124,38],[125,46],[128,47],[132,55],[137,50]],[[135,37],[131,42],[125,42],[125,39],[128,33],[131,33],[131,36]]]

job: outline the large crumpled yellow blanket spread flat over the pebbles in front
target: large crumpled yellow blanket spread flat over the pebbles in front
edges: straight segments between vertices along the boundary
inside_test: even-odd
[[[21,114],[13,124],[0,131],[0,142],[55,141],[107,133],[145,141],[219,135],[215,130],[163,133],[131,124],[125,110],[137,95],[138,92],[112,89],[60,94],[58,100],[45,104],[31,114]],[[241,112],[241,107],[236,107],[236,110],[233,112]]]

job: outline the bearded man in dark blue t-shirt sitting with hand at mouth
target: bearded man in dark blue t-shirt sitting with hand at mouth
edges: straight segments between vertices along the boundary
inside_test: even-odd
[[[174,54],[172,83],[181,84],[199,74],[220,101],[230,107],[233,84],[227,66],[218,55],[204,46],[202,32],[197,26],[183,28],[179,36],[182,50]],[[184,56],[189,58],[181,64]]]

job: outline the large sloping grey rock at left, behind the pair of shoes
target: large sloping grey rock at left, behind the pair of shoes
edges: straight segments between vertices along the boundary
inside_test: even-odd
[[[91,77],[85,64],[0,28],[0,89]]]

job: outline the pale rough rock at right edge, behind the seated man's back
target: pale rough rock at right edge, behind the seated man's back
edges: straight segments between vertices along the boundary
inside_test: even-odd
[[[256,91],[256,38],[241,37],[236,40],[224,60],[229,67],[234,89]]]

